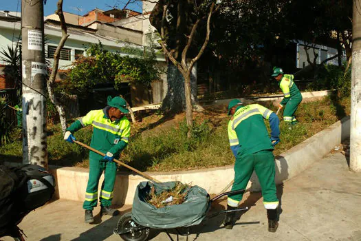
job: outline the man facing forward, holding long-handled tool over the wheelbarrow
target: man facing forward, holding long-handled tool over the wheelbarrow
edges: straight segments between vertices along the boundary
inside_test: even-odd
[[[64,139],[74,143],[76,138],[74,132],[87,125],[93,125],[93,136],[90,146],[106,155],[100,156],[94,151],[89,153],[89,180],[85,193],[85,222],[94,222],[93,209],[98,200],[98,183],[105,171],[104,182],[100,193],[101,214],[116,216],[119,211],[111,209],[113,199],[113,187],[116,180],[117,164],[113,158],[118,158],[120,152],[127,147],[130,136],[130,123],[124,114],[129,113],[127,102],[119,96],[107,98],[107,107],[104,109],[92,110],[83,118],[75,121],[67,128]]]

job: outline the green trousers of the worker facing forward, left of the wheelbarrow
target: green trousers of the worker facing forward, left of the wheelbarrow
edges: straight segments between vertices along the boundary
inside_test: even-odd
[[[98,185],[99,178],[104,174],[104,182],[102,182],[102,190],[99,195],[100,205],[109,207],[113,199],[114,182],[116,181],[117,164],[114,162],[107,162],[102,158],[91,158],[89,160],[89,180],[87,184],[87,191],[85,193],[85,201],[83,209],[93,210],[98,202]]]

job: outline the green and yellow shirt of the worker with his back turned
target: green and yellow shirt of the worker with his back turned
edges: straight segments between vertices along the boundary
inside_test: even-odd
[[[273,150],[270,136],[263,119],[270,119],[272,111],[262,105],[252,104],[240,106],[228,123],[228,137],[230,145],[238,139],[237,158],[254,154],[262,150]]]

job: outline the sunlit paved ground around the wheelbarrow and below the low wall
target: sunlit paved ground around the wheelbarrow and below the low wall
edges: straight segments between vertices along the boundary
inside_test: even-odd
[[[361,174],[349,171],[346,158],[340,153],[330,154],[278,187],[282,211],[276,233],[267,231],[262,198],[252,193],[243,204],[252,206],[234,229],[221,228],[223,216],[219,216],[193,228],[189,240],[361,240],[360,186]],[[119,216],[103,217],[101,222],[97,216],[97,224],[84,224],[81,205],[57,200],[30,213],[20,227],[27,240],[121,240],[113,235]],[[223,205],[224,200],[213,210],[223,209]],[[122,207],[120,211],[129,209]],[[151,235],[153,240],[167,240],[165,233]]]

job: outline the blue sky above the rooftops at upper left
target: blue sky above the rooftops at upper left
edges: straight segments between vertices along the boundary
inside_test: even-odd
[[[57,0],[46,0],[44,15],[53,14],[56,10]],[[124,8],[127,0],[63,0],[63,11],[84,15],[94,8],[109,10],[114,6]],[[142,12],[140,3],[131,3],[127,8]],[[21,0],[0,0],[0,10],[21,12]]]

